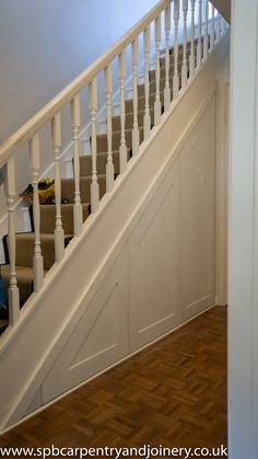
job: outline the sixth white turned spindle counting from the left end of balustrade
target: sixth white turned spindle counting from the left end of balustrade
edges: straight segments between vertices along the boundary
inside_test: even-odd
[[[106,164],[106,190],[110,192],[114,186],[114,163],[112,154],[112,93],[113,93],[113,70],[112,64],[105,68],[105,88],[107,105],[107,164]]]

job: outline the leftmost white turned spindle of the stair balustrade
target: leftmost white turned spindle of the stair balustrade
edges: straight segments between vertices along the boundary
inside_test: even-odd
[[[8,290],[9,300],[9,323],[15,325],[20,318],[20,294],[17,288],[15,269],[15,221],[14,221],[14,199],[15,199],[15,169],[14,158],[12,157],[7,164],[8,174],[8,252],[10,263],[10,285]]]

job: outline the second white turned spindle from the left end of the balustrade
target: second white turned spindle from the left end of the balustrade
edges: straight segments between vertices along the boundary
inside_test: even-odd
[[[38,197],[38,175],[40,169],[38,134],[30,140],[30,161],[33,185],[33,219],[35,232],[35,249],[33,257],[34,291],[39,291],[44,282],[44,265],[40,246],[40,208]]]

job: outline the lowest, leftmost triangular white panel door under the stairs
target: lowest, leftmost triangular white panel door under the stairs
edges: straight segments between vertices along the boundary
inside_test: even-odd
[[[43,385],[43,403],[128,354],[128,255],[122,251]]]

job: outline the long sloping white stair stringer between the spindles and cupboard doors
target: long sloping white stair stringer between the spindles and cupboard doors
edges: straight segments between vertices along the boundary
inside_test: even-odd
[[[142,145],[141,154],[132,158],[128,171],[117,179],[113,193],[102,199],[99,213],[90,216],[83,233],[69,244],[62,263],[48,272],[40,294],[34,294],[23,308],[20,324],[10,326],[1,338],[1,432],[19,423],[30,406],[35,409],[34,400],[43,402],[42,386],[55,362],[155,196],[168,162],[176,160],[186,137],[215,95],[216,72],[228,55],[228,43],[227,33],[163,115],[148,145]],[[202,309],[207,307],[202,305]],[[118,360],[130,352],[128,343],[120,348]]]

